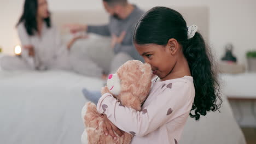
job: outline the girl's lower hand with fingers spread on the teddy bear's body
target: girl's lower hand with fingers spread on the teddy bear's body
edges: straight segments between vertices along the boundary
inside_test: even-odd
[[[103,115],[102,117],[103,117],[103,131],[105,135],[109,134],[110,136],[113,137],[114,140],[117,140],[117,136],[115,135],[115,133],[117,133],[119,136],[122,136],[124,134],[124,131],[115,127],[115,125],[108,120],[106,115]]]

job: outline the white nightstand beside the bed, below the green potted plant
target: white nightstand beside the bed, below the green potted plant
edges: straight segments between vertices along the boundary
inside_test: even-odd
[[[256,73],[220,74],[222,92],[241,127],[256,127]]]

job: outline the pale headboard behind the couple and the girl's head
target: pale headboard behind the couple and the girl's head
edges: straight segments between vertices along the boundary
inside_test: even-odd
[[[179,11],[187,21],[187,25],[197,25],[199,32],[203,35],[206,41],[209,37],[209,19],[208,7],[170,7]],[[150,8],[142,8],[145,11]],[[84,10],[84,11],[52,11],[52,20],[55,25],[61,29],[62,33],[66,30],[63,25],[67,23],[88,23],[101,25],[108,22],[108,14],[102,10]]]

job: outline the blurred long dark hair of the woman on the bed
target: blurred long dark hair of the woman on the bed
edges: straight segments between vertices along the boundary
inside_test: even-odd
[[[24,22],[24,26],[28,35],[34,35],[34,32],[38,31],[37,28],[37,9],[38,9],[38,0],[26,0],[24,3],[23,13],[18,21],[18,26],[21,22]],[[50,16],[44,19],[46,26],[51,27]]]

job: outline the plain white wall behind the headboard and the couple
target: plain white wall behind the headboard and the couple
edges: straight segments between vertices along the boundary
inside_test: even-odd
[[[50,9],[83,10],[101,9],[101,0],[48,0]],[[246,63],[245,52],[256,49],[256,1],[255,0],[130,0],[141,7],[161,6],[207,6],[210,8],[210,45],[218,58],[224,53],[226,43],[234,44],[239,63]],[[21,14],[24,0],[0,0],[0,46],[5,53],[13,53],[19,44],[15,23]],[[196,23],[195,23],[196,24]]]

